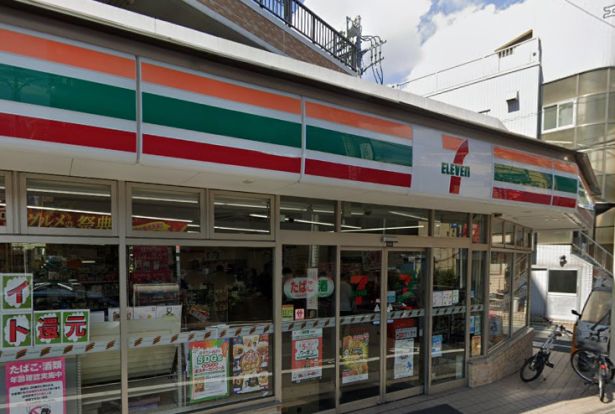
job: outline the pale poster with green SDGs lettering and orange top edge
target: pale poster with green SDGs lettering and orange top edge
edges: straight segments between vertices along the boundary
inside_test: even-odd
[[[191,342],[190,401],[227,397],[229,345],[226,339]]]

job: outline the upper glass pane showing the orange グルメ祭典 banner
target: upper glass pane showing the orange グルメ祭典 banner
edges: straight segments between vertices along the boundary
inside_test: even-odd
[[[111,185],[26,179],[28,226],[111,230]]]

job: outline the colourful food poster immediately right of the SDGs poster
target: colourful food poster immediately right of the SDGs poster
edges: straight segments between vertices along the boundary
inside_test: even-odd
[[[269,389],[269,335],[245,335],[232,339],[233,393]]]

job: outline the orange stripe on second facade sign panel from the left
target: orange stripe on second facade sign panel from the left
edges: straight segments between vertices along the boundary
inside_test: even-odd
[[[301,113],[301,101],[297,98],[233,85],[149,63],[143,63],[141,69],[145,82],[296,115]]]

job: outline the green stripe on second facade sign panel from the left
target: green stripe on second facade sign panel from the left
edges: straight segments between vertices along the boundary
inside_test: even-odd
[[[143,121],[301,148],[301,124],[143,93]]]

